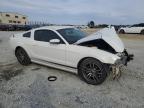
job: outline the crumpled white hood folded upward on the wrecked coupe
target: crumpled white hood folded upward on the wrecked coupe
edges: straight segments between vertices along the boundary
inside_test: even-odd
[[[81,44],[96,39],[103,39],[112,48],[114,48],[116,52],[124,51],[124,44],[119,38],[119,36],[117,35],[114,27],[101,29],[98,32],[95,32],[85,38],[78,40],[75,44]]]

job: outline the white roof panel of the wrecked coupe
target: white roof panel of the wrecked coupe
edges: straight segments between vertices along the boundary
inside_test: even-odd
[[[66,28],[74,28],[73,26],[44,26],[35,28],[33,30],[39,30],[39,29],[50,29],[50,30],[59,30],[59,29],[66,29]]]

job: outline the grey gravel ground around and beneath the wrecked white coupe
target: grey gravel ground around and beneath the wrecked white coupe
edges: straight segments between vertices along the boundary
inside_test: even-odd
[[[144,108],[144,40],[123,39],[135,59],[119,80],[88,85],[77,75],[46,66],[20,65],[0,32],[0,108]],[[55,82],[47,77],[57,76]]]

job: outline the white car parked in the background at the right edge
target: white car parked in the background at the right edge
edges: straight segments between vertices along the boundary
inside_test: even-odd
[[[136,24],[128,27],[122,27],[118,30],[119,33],[124,34],[124,33],[139,33],[139,34],[144,34],[144,24]]]

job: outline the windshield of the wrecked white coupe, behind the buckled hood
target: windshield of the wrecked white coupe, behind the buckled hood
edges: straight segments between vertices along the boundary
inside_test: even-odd
[[[63,38],[69,44],[73,44],[76,41],[78,41],[78,40],[84,38],[85,36],[87,36],[86,33],[82,32],[81,30],[76,29],[76,28],[59,29],[57,31],[63,36]]]

